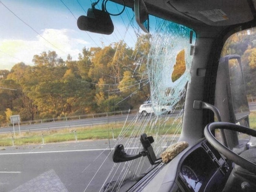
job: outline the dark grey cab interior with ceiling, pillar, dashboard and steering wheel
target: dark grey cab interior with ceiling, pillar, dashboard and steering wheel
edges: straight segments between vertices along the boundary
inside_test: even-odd
[[[134,6],[134,0],[113,2],[125,2],[126,6]],[[196,33],[191,82],[187,84],[182,133],[179,138],[179,141],[188,142],[189,147],[161,168],[158,166],[153,169],[129,191],[254,191],[256,153],[253,137],[239,140],[236,131],[256,136],[255,131],[245,128],[250,127],[248,114],[242,118],[234,115],[234,99],[228,96],[232,91],[229,88],[230,81],[223,80],[228,76],[225,65],[228,65],[230,58],[226,57],[225,61],[220,58],[228,37],[255,27],[256,2],[143,2],[149,15],[182,24]],[[235,58],[236,55],[228,57]],[[241,62],[239,55],[237,62]],[[215,129],[220,129],[219,142],[213,137]],[[195,178],[195,175],[200,176]]]

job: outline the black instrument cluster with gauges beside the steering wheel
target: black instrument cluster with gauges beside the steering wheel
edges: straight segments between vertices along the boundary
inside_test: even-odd
[[[204,140],[182,161],[176,183],[185,191],[221,191],[231,170],[231,165]]]

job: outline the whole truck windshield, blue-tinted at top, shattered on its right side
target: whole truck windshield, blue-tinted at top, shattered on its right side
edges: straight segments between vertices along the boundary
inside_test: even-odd
[[[145,33],[111,2],[112,34],[80,30],[92,4],[0,1],[3,191],[126,191],[157,164],[113,162],[115,147],[139,154],[145,133],[159,158],[180,136],[195,32],[150,15]]]

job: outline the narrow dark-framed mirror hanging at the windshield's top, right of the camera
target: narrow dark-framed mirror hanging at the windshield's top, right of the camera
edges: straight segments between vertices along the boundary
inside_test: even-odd
[[[134,14],[139,27],[149,33],[148,10],[143,0],[134,0]]]

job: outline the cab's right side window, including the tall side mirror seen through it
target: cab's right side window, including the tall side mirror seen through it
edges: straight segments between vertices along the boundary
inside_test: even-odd
[[[231,35],[224,44],[215,87],[222,121],[256,129],[256,28]],[[233,135],[226,131],[227,136]],[[237,133],[239,144],[245,139]],[[235,147],[238,143],[233,143]]]

